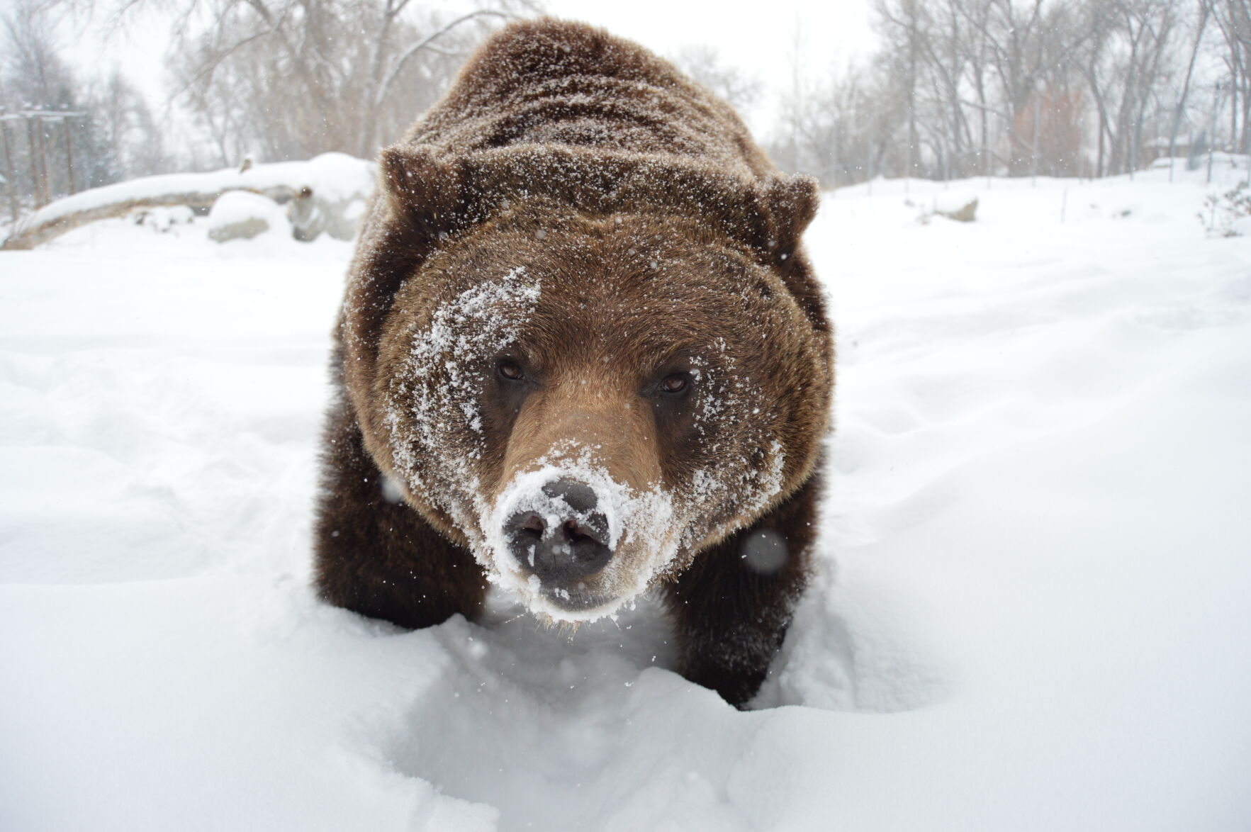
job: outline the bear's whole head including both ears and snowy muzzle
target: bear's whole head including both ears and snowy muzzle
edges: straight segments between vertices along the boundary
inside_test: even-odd
[[[384,151],[348,389],[405,502],[530,609],[590,619],[812,472],[829,333],[788,278],[816,195],[525,153]]]

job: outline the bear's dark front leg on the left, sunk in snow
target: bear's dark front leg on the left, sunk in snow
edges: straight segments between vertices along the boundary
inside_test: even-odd
[[[482,608],[482,567],[384,493],[342,395],[325,430],[314,545],[318,591],[338,607],[412,629],[455,613],[475,618]]]

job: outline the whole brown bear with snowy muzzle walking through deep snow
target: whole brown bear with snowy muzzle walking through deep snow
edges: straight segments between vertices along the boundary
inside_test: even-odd
[[[429,627],[488,582],[544,621],[663,597],[744,706],[803,589],[832,333],[812,179],[641,46],[490,38],[382,151],[335,332],[330,603]]]

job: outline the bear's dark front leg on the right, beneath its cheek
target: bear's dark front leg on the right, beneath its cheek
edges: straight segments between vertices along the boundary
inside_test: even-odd
[[[818,492],[814,475],[668,587],[682,676],[737,708],[759,691],[807,583]]]

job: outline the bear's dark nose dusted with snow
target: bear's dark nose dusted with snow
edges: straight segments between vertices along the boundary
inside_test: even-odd
[[[547,587],[567,587],[603,569],[613,552],[608,519],[595,510],[595,492],[560,479],[543,493],[550,499],[543,510],[518,512],[504,527],[517,562]]]

